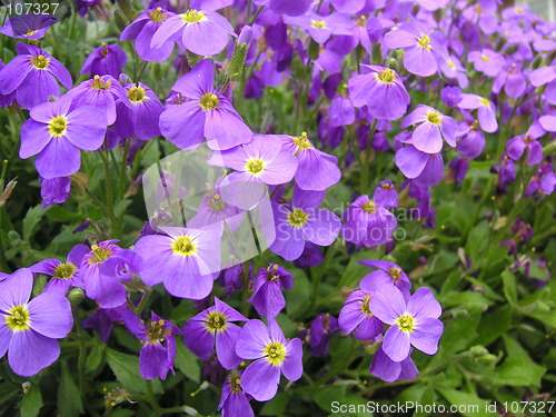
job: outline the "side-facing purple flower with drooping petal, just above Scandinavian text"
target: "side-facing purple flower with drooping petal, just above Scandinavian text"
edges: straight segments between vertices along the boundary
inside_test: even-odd
[[[340,180],[338,158],[315,148],[306,132],[300,137],[280,136],[280,138],[285,149],[299,160],[295,179],[300,189],[324,191]]]

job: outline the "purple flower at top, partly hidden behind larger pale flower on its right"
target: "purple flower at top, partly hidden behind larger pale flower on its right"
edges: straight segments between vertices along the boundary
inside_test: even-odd
[[[170,57],[173,50],[173,39],[168,39],[158,48],[152,48],[152,37],[162,23],[175,16],[171,11],[148,9],[139,14],[120,34],[120,41],[135,39],[137,54],[146,61],[162,62]]]

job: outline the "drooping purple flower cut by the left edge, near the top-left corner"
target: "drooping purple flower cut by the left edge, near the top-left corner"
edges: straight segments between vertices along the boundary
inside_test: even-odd
[[[71,75],[56,58],[32,44],[19,42],[16,49],[18,56],[2,69],[0,93],[16,92],[18,105],[30,110],[50,97],[60,97],[57,79],[71,88]]]

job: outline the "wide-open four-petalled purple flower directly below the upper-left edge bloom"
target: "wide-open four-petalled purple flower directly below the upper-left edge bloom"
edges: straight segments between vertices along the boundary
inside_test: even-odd
[[[21,127],[22,159],[38,155],[42,178],[69,177],[79,170],[82,150],[97,150],[105,141],[106,113],[95,107],[70,108],[71,97],[34,107]]]

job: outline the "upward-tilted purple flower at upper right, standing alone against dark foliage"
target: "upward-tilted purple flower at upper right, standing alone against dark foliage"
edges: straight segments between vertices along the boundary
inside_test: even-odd
[[[367,106],[369,115],[376,119],[396,120],[404,116],[410,99],[396,71],[361,64],[361,72],[348,81],[349,98],[354,106]]]

